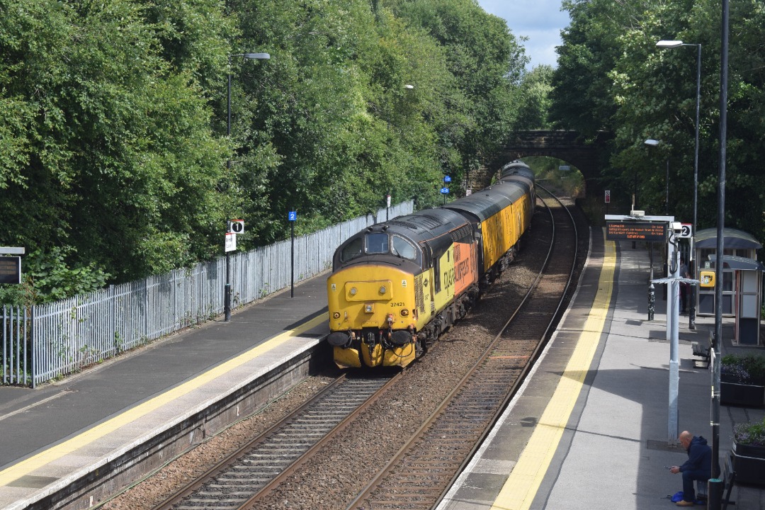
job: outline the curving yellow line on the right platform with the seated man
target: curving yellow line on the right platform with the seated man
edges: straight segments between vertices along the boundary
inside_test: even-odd
[[[597,294],[588,319],[584,323],[576,348],[568,360],[555,393],[539,419],[529,443],[513,467],[505,485],[497,495],[492,510],[527,510],[535,498],[542,479],[558,448],[568,418],[574,409],[584,377],[587,375],[603,332],[616,267],[614,242],[605,242],[603,268]]]

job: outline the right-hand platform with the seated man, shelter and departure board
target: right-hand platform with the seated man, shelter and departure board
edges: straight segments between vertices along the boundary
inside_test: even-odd
[[[669,440],[666,301],[659,288],[648,320],[646,249],[608,242],[600,229],[591,242],[578,293],[532,378],[439,510],[677,508],[670,497],[682,478],[666,466],[688,456]],[[688,430],[710,446],[711,372],[695,367],[691,344],[706,343],[714,327],[714,317],[697,317],[690,330],[688,316],[680,317],[678,434]],[[732,328],[723,325],[723,354],[761,350],[733,346]],[[721,406],[721,468],[734,423],[763,414]],[[729,501],[727,508],[762,510],[765,491],[734,484]]]

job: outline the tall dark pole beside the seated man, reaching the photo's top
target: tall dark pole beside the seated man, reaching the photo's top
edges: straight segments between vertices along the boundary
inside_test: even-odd
[[[722,343],[722,273],[725,228],[725,160],[728,142],[728,0],[722,0],[722,31],[720,47],[720,174],[718,182],[718,228],[715,261],[715,359],[721,354]],[[708,482],[709,508],[719,510],[723,481],[720,479],[720,363],[712,370],[712,477]]]

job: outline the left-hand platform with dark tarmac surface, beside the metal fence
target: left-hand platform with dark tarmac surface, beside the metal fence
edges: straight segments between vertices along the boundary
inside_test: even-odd
[[[0,386],[0,508],[90,508],[329,365],[327,275],[59,382]]]

